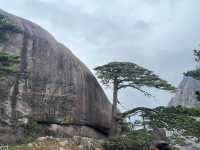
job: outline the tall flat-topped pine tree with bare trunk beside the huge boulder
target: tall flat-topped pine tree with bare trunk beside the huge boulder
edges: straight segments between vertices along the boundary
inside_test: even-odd
[[[127,87],[134,88],[146,96],[150,96],[142,87],[154,87],[161,90],[174,91],[175,87],[167,81],[159,78],[152,71],[131,62],[111,62],[109,64],[95,68],[97,77],[106,86],[113,86],[113,105],[112,105],[112,131],[111,135],[116,134],[117,130],[117,103],[118,91]]]

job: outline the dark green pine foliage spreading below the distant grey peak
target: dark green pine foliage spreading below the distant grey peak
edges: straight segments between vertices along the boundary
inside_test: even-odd
[[[157,113],[147,113],[152,128],[165,128],[176,131],[184,136],[194,136],[200,139],[200,109],[178,107],[158,107]]]

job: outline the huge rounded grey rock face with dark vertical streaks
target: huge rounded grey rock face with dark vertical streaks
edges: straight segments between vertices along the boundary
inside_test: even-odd
[[[0,82],[1,124],[26,123],[31,117],[108,133],[111,104],[88,68],[38,25],[2,10],[0,14],[24,32],[0,45],[0,51],[21,59],[20,77]]]

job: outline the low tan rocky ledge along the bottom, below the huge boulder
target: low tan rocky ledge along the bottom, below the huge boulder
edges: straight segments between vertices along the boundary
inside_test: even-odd
[[[79,136],[65,139],[40,137],[32,143],[8,148],[15,150],[104,150],[102,143],[100,140]]]

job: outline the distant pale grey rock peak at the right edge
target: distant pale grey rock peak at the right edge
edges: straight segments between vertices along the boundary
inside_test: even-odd
[[[200,91],[200,81],[192,77],[184,77],[169,106],[200,107],[200,101],[196,98],[196,91]]]

